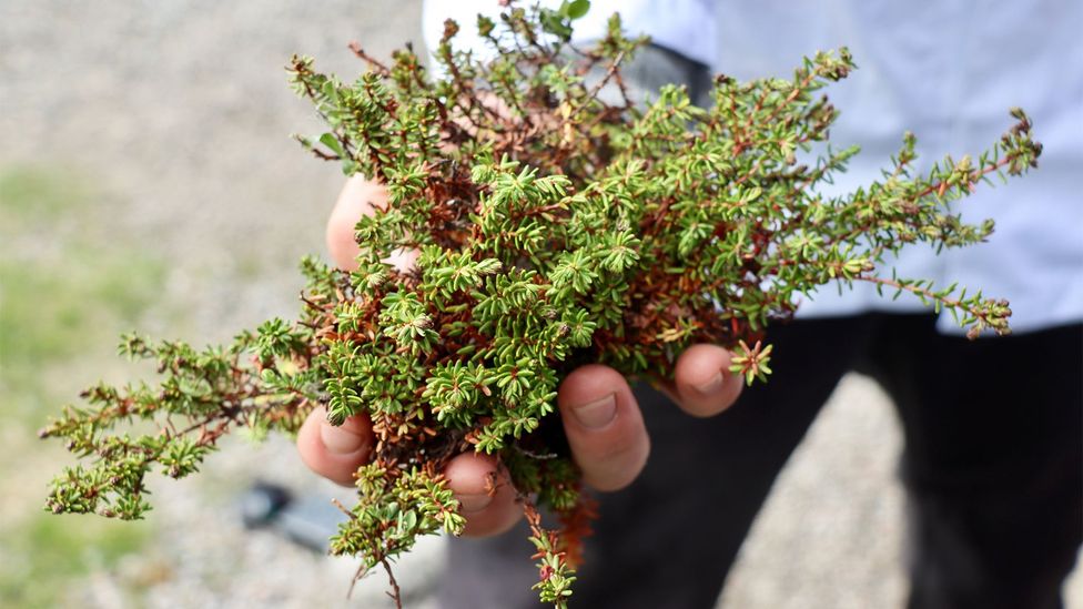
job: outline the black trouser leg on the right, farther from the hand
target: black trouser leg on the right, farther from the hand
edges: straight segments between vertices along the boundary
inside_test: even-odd
[[[1083,327],[971,342],[892,316],[868,362],[903,422],[910,607],[1062,607],[1083,540]]]

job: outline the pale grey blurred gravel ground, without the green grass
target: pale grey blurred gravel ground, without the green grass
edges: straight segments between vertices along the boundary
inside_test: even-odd
[[[353,74],[346,42],[384,55],[418,39],[417,16],[417,2],[402,0],[6,0],[0,164],[47,164],[112,193],[101,213],[115,219],[119,238],[170,261],[163,305],[146,313],[142,329],[180,332],[196,344],[225,339],[292,315],[295,261],[322,250],[341,183],[336,168],[308,160],[287,138],[318,125],[287,91],[282,65],[303,52]],[[871,382],[848,378],[783,473],[721,606],[900,606],[899,450],[885,397]],[[152,547],[94,572],[72,601],[388,605],[379,576],[347,601],[348,561],[241,528],[235,493],[254,478],[342,494],[307,475],[286,441],[232,445],[209,469],[200,480],[160,485]],[[414,607],[433,607],[439,548],[426,544],[398,569]],[[133,587],[149,592],[133,599]],[[1083,607],[1079,572],[1070,588],[1070,607]]]

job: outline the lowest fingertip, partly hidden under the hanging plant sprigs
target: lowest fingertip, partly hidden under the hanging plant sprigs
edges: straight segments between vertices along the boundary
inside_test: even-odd
[[[459,514],[466,517],[464,536],[502,534],[523,516],[523,507],[515,501],[515,489],[495,457],[465,453],[447,464],[444,475],[458,499]]]

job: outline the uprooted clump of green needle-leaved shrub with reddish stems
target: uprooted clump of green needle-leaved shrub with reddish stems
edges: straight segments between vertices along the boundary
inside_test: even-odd
[[[679,87],[637,108],[620,65],[642,41],[615,17],[594,48],[569,44],[584,4],[479,18],[489,62],[456,50],[447,22],[435,49],[443,79],[408,49],[385,65],[354,47],[370,70],[352,84],[294,58],[293,87],[328,126],[302,144],[388,192],[356,225],[357,270],[304,261],[301,318],[267,322],[229,349],[129,339],[124,352],[158,362],[164,378],[93,388],[91,407],[43,430],[89,461],[58,478],[49,508],[139,518],[153,467],[190,474],[230,429],[293,432],[324,405],[333,424],[368,416],[376,435],[335,552],[387,567],[418,535],[460,531],[441,473],[464,450],[488,453],[530,522],[539,597],[564,606],[593,509],[548,429],[575,366],[665,380],[686,347],[712,342],[735,349],[735,373],[762,379],[763,328],[828,283],[870,282],[952,311],[973,334],[1008,332],[1001,301],[879,268],[907,244],[989,236],[991,223],[965,224],[949,203],[990,174],[1034,166],[1041,148],[1022,112],[976,161],[920,174],[907,135],[882,180],[828,197],[819,186],[857,150],[799,158],[838,114],[818,91],[852,70],[846,49],[806,59],[789,80],[720,77],[710,109]],[[603,101],[607,87],[621,102]],[[419,252],[411,268],[388,262],[404,248]],[[162,432],[113,432],[131,418]],[[536,506],[557,514],[560,532],[543,528]]]

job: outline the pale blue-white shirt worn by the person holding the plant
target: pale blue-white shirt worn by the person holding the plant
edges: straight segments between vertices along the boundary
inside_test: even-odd
[[[558,2],[555,2],[558,3]],[[439,39],[452,17],[473,30],[493,0],[425,4],[423,31]],[[1083,2],[1019,0],[594,0],[576,22],[577,39],[597,38],[614,10],[628,32],[741,80],[792,75],[804,55],[849,47],[859,69],[823,90],[841,110],[831,129],[837,148],[862,152],[828,194],[852,191],[880,176],[904,131],[918,136],[918,170],[944,154],[959,159],[996,142],[1023,108],[1044,151],[1039,169],[1008,184],[981,186],[958,202],[964,220],[992,217],[988,243],[944,250],[905,247],[894,266],[902,277],[981,288],[1011,302],[1011,325],[1028,332],[1083,319]],[[460,34],[463,35],[463,34]],[[476,44],[463,38],[462,44]],[[841,295],[821,287],[799,316],[866,311],[917,312],[915,298],[897,301],[859,284]],[[940,328],[961,332],[943,314]]]

